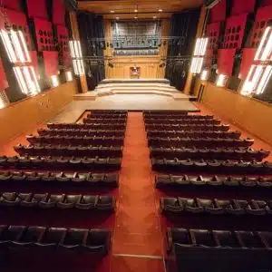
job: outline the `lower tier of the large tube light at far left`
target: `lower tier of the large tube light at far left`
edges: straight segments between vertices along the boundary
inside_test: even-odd
[[[20,89],[25,95],[41,92],[33,66],[16,66],[13,69]]]

